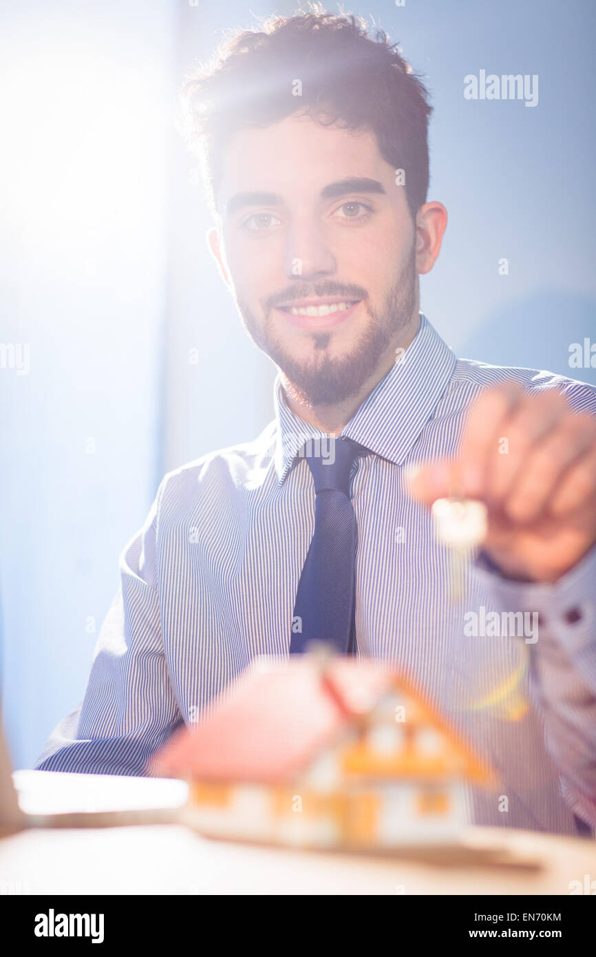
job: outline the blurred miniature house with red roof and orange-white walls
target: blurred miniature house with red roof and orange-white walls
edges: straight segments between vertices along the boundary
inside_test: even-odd
[[[403,677],[319,653],[259,659],[156,768],[205,835],[361,849],[456,838],[489,780]]]

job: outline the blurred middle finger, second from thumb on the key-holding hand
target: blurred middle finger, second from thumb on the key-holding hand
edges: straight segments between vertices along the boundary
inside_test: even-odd
[[[539,395],[526,395],[503,424],[497,437],[494,458],[488,462],[487,498],[492,504],[500,504],[510,493],[530,450],[551,433],[569,406],[563,395],[549,389]]]

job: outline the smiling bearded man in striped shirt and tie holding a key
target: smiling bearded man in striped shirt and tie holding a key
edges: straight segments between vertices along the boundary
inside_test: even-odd
[[[596,824],[596,395],[456,360],[419,313],[447,212],[426,91],[384,34],[306,14],[189,81],[209,243],[279,369],[253,442],[163,479],[84,701],[37,767],[142,774],[260,654],[382,657],[499,774],[478,823]],[[483,501],[457,598],[433,501]],[[487,624],[490,623],[490,624]]]

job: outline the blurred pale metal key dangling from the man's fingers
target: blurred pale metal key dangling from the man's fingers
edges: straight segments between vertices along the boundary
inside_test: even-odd
[[[453,601],[459,601],[475,548],[486,535],[487,508],[483,501],[459,496],[437,499],[432,520],[437,541],[450,550],[450,594]]]

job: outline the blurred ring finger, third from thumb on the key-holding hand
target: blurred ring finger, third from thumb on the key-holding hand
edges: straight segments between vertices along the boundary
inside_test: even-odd
[[[503,502],[507,517],[518,523],[534,522],[547,509],[566,470],[590,449],[595,434],[596,423],[589,415],[569,415],[549,433],[531,452]]]

